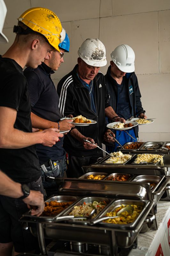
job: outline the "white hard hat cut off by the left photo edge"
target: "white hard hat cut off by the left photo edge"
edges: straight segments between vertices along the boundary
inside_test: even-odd
[[[0,0],[0,43],[8,43],[8,38],[2,33],[7,8],[4,0]]]

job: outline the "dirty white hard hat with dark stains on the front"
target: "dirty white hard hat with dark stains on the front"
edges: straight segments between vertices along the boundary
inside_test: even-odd
[[[84,62],[93,67],[103,67],[107,64],[106,49],[97,38],[87,38],[81,44],[78,55]]]

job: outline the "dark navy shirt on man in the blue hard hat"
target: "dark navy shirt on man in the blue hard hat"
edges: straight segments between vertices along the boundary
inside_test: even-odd
[[[31,98],[31,111],[44,119],[58,122],[62,116],[58,107],[58,93],[51,79],[53,73],[54,71],[45,63],[42,63],[38,68],[26,68],[24,70]],[[64,137],[60,138],[60,141],[52,147],[37,144],[36,152],[40,161],[63,159],[65,156],[65,150],[62,147],[63,140]]]

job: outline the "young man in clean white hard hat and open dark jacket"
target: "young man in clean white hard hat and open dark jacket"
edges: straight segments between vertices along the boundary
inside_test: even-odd
[[[110,56],[112,60],[105,75],[105,80],[110,95],[109,103],[117,113],[114,121],[119,121],[120,117],[127,120],[131,116],[147,119],[140,100],[141,93],[134,72],[135,52],[129,45],[121,44],[114,49]],[[112,123],[112,120],[108,118],[108,122]],[[124,131],[113,131],[121,145],[136,141],[138,137],[138,126],[127,131],[133,138]],[[106,151],[114,152],[117,146],[117,143],[114,146],[113,144],[106,145]]]

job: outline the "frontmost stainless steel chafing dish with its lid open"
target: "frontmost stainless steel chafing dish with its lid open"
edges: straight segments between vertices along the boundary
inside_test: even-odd
[[[157,229],[157,223],[154,212],[154,202],[152,200],[151,188],[147,183],[139,184],[137,182],[119,182],[104,180],[80,180],[69,178],[56,178],[59,185],[59,194],[70,196],[102,197],[109,202],[125,200],[127,203],[136,201],[137,204],[143,204],[143,214],[140,215],[131,226],[103,226],[101,223],[91,225],[88,221],[79,223],[73,219],[62,222],[49,222],[42,218],[28,218],[23,215],[21,221],[26,221],[31,232],[38,236],[39,245],[42,254],[46,253],[44,237],[50,239],[60,239],[78,243],[95,244],[109,246],[110,255],[118,255],[118,247],[129,248],[137,239],[139,232],[147,231],[148,228]],[[82,199],[83,200],[83,199]],[[79,201],[80,202],[80,201]],[[123,201],[122,201],[123,202]],[[108,204],[109,207],[110,204]],[[107,208],[105,208],[106,210]],[[66,212],[65,212],[66,213]],[[65,215],[61,214],[61,217]],[[102,213],[102,212],[101,212]],[[150,217],[148,215],[151,214]],[[98,217],[97,217],[98,218]],[[94,254],[98,255],[98,254]]]

